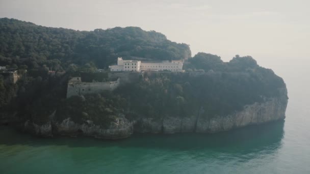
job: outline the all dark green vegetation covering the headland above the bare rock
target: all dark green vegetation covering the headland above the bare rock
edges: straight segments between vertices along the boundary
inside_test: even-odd
[[[116,62],[117,56],[187,59],[187,72],[146,72],[114,92],[66,99],[70,77],[106,81],[107,73],[94,72]],[[230,62],[203,52],[190,56],[188,45],[138,27],[80,32],[2,18],[0,66],[18,68],[22,78],[13,84],[0,75],[0,110],[17,111],[37,124],[45,123],[54,111],[58,121],[70,117],[77,123],[92,120],[101,126],[119,114],[128,119],[189,117],[200,108],[204,117],[211,118],[279,97],[278,88],[285,88],[282,78],[257,65],[251,56],[236,55]],[[59,73],[63,70],[66,73]]]

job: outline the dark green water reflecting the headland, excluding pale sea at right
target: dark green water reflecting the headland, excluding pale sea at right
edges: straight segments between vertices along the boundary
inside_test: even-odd
[[[140,134],[116,141],[44,139],[0,127],[0,168],[5,173],[255,173],[273,168],[283,125],[216,134]]]

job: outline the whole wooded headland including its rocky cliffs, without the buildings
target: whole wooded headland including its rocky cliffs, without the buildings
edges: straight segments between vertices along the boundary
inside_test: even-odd
[[[0,75],[0,117],[17,118],[38,135],[218,132],[285,118],[285,82],[251,56],[229,62],[203,52],[191,57],[188,45],[138,27],[80,32],[3,18],[0,37],[0,65],[18,68],[21,77],[12,83]],[[135,80],[114,91],[80,89],[90,93],[66,98],[70,77],[90,83],[116,78],[95,72],[117,56],[184,59],[185,72],[120,72]]]

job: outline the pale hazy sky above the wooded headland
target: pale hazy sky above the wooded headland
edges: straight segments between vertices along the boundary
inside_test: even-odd
[[[309,8],[309,0],[0,0],[0,17],[87,31],[139,26],[189,44],[193,55],[267,61],[309,57]]]

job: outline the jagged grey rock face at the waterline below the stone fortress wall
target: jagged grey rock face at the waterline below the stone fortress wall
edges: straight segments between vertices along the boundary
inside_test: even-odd
[[[95,125],[92,121],[83,124],[74,123],[70,118],[55,124],[55,133],[61,135],[77,136],[94,136],[104,139],[126,138],[133,134],[133,123],[124,117],[115,118],[108,128],[102,128]]]

